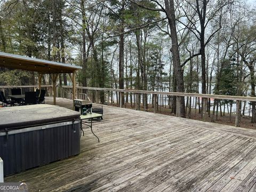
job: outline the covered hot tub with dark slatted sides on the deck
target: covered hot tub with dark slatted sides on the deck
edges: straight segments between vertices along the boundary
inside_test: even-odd
[[[4,175],[80,153],[80,113],[52,105],[0,108]]]

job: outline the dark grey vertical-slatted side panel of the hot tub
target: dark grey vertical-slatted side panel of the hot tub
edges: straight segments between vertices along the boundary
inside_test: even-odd
[[[80,123],[0,136],[4,175],[80,153]]]

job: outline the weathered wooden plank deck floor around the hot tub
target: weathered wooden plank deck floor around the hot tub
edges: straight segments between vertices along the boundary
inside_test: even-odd
[[[59,99],[57,105],[72,103]],[[81,154],[5,182],[27,182],[30,191],[256,191],[256,131],[103,110],[103,120],[93,124],[100,143],[86,129]]]

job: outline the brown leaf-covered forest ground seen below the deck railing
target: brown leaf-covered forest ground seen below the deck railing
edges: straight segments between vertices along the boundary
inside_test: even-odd
[[[117,105],[114,105],[117,106]],[[130,104],[126,105],[125,108],[130,108],[130,109],[134,109],[134,107],[131,107]],[[140,110],[144,110],[144,108],[141,106]],[[154,108],[151,105],[148,105],[148,112],[150,113],[154,113]],[[171,109],[169,109],[168,106],[166,107],[158,107],[158,114],[164,114],[164,115],[171,115],[171,116],[175,116],[175,114],[171,113]],[[211,111],[212,114],[212,111]],[[188,118],[188,110],[187,110],[187,114],[186,114],[186,118]],[[190,119],[195,119],[198,121],[203,121],[202,117],[201,117],[201,113],[199,113],[198,109],[191,109],[191,117]],[[236,119],[236,114],[231,114],[231,118],[230,118],[230,114],[225,113],[225,115],[220,116],[220,114],[218,114],[218,118],[215,119],[214,123],[218,123],[218,124],[224,124],[224,125],[231,125],[231,126],[235,126],[235,119]],[[211,122],[211,117],[206,116],[205,118],[206,122]],[[241,117],[241,127],[247,128],[247,129],[254,129],[256,130],[256,123],[251,123],[251,117],[249,116],[242,116]]]

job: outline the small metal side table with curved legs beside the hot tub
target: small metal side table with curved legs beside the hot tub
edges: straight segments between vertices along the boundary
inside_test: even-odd
[[[85,125],[85,128],[86,127],[90,127],[91,128],[91,131],[92,131],[92,119],[93,118],[98,118],[98,119],[101,119],[102,118],[102,114],[97,114],[97,113],[87,113],[87,115],[81,115],[80,116],[80,123],[81,123],[81,133],[83,132],[83,136],[84,136],[84,130],[83,130],[83,126],[82,125]],[[95,135],[92,131],[92,134],[97,137],[97,135]],[[100,142],[100,139],[97,137],[98,139],[98,142]]]

